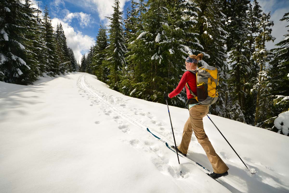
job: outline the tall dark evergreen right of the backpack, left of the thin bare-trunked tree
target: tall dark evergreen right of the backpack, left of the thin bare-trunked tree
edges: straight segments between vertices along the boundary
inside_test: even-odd
[[[244,92],[242,86],[246,74],[251,73],[249,68],[249,60],[246,57],[249,48],[246,45],[248,29],[247,10],[249,1],[247,0],[232,0],[228,1],[225,6],[225,13],[228,18],[226,29],[229,32],[227,36],[227,47],[230,51],[230,66],[229,84],[230,84],[230,101],[232,117],[238,117],[241,122],[246,122],[244,119],[243,100]]]

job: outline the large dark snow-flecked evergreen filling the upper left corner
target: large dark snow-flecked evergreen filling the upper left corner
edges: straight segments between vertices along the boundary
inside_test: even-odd
[[[29,1],[1,1],[0,65],[1,79],[16,84],[32,84],[40,75],[36,53],[31,48],[36,19]],[[30,29],[30,26],[32,29]]]

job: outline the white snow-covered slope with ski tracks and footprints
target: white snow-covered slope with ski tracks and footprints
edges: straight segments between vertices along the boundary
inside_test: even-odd
[[[188,110],[170,106],[177,144]],[[87,73],[38,84],[0,82],[0,192],[289,192],[289,138],[210,115],[249,168],[205,117],[229,175],[211,179],[173,144],[167,107],[122,95]],[[193,136],[188,157],[212,171]],[[180,177],[180,170],[184,178]]]

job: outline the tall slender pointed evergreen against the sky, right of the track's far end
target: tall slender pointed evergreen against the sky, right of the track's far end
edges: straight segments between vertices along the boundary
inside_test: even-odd
[[[123,36],[123,23],[121,15],[123,12],[120,11],[119,1],[114,1],[114,13],[110,19],[110,29],[109,32],[109,42],[110,45],[107,48],[107,56],[105,63],[110,70],[109,82],[108,84],[113,88],[118,90],[118,84],[120,82],[120,76],[123,73],[123,68],[126,67],[125,53],[127,51],[124,45],[125,39]]]

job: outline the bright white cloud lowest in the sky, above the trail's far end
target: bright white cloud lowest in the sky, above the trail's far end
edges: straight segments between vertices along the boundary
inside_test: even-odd
[[[69,23],[59,18],[52,19],[52,26],[56,28],[57,23],[60,22],[62,24],[63,31],[66,37],[67,46],[73,49],[76,60],[79,60],[80,62],[82,56],[81,53],[86,54],[95,41],[92,37],[83,35],[79,31],[75,32],[74,28],[71,27]]]

